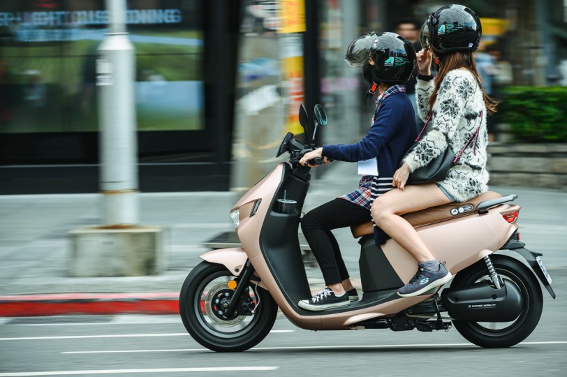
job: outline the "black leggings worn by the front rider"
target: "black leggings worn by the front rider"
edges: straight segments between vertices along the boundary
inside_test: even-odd
[[[371,221],[369,209],[340,198],[311,209],[303,216],[301,229],[321,267],[327,286],[349,277],[341,249],[331,230],[368,221]]]

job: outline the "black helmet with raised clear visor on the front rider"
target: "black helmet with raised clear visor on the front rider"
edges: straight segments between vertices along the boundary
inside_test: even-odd
[[[360,67],[369,57],[374,60],[371,72],[375,82],[404,84],[413,75],[415,49],[403,36],[374,31],[360,36],[348,45],[344,60],[351,67]]]

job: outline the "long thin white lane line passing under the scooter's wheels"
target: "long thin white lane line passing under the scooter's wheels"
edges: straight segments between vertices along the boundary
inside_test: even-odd
[[[518,343],[522,346],[545,345],[545,344],[567,344],[567,341],[525,341]],[[252,350],[344,350],[347,348],[362,348],[367,350],[375,350],[381,348],[412,348],[412,347],[475,347],[473,343],[429,343],[429,344],[384,344],[383,346],[301,346],[301,347],[254,347]],[[179,348],[164,350],[93,350],[93,351],[65,351],[61,354],[78,354],[78,353],[159,353],[159,352],[202,352],[207,348]],[[212,352],[212,351],[211,351]]]

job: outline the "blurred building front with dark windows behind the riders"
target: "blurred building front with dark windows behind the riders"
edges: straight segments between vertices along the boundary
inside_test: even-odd
[[[508,68],[504,82],[567,84],[565,1],[459,3],[482,18],[483,48]],[[320,144],[357,141],[373,108],[361,71],[343,61],[346,46],[443,5],[128,0],[140,189],[250,186],[273,168],[283,135],[300,132],[299,103],[325,106]],[[98,191],[96,47],[107,20],[103,0],[0,3],[0,193]]]

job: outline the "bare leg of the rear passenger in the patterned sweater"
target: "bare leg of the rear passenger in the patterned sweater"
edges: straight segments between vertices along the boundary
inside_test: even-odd
[[[406,186],[404,190],[396,188],[379,196],[372,203],[371,213],[377,226],[418,262],[425,262],[435,257],[418,232],[401,215],[448,203],[450,200],[436,184],[413,185]]]

